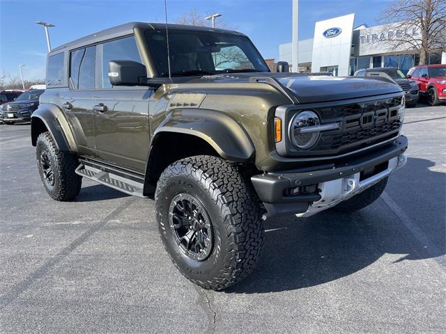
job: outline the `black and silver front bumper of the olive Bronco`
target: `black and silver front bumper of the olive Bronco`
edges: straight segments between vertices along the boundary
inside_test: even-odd
[[[401,168],[406,164],[403,152],[407,147],[407,138],[399,136],[390,145],[348,161],[339,161],[330,169],[315,166],[305,170],[255,175],[251,180],[268,216],[312,216],[364,191]],[[364,173],[367,173],[367,177],[364,177]],[[316,191],[312,193],[302,191],[294,196],[288,194],[289,189],[312,189],[315,185]]]

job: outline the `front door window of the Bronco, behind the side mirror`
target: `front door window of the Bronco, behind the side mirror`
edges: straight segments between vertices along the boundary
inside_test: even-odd
[[[102,45],[102,88],[113,88],[109,80],[109,61],[137,61],[142,63],[134,37],[112,40]]]

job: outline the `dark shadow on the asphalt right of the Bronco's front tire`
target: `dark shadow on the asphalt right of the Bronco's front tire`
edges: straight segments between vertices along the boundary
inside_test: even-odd
[[[399,177],[427,177],[424,179],[429,180],[426,188],[427,184],[437,184],[440,188],[438,194],[430,196],[440,196],[438,200],[443,201],[444,207],[445,173],[433,172],[428,169],[431,166],[432,161],[409,158],[406,170],[398,172],[403,173]],[[387,190],[392,189],[387,186]],[[401,191],[405,191],[407,203],[403,210],[408,209],[410,203],[420,202],[417,198],[420,191]],[[422,189],[422,193],[424,191],[431,190]],[[445,212],[438,209],[435,214],[437,219],[431,219],[429,229],[424,229],[431,240],[438,240],[435,234],[441,231],[445,235]],[[352,214],[327,211],[309,218],[270,218],[265,222],[266,245],[261,262],[249,277],[225,292],[267,293],[312,287],[360,271],[385,253],[402,254],[394,262],[445,255],[442,241],[435,250],[428,252],[397,219],[382,198],[371,207]],[[414,216],[412,219],[417,225],[424,223],[422,218]]]

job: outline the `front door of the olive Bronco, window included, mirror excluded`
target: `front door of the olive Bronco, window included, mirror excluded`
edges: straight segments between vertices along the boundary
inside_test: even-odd
[[[96,148],[100,159],[144,173],[148,155],[147,87],[112,86],[109,61],[143,63],[134,36],[104,42],[98,47],[99,88],[93,95]]]

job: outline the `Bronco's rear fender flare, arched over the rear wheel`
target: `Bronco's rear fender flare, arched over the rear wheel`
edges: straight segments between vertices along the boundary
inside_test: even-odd
[[[43,128],[42,125],[46,127]],[[37,137],[49,131],[61,151],[78,152],[75,138],[63,112],[56,104],[43,103],[31,116],[31,143],[36,146]]]

